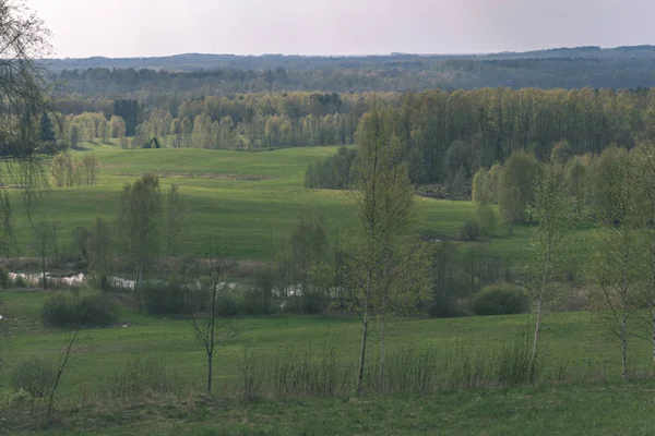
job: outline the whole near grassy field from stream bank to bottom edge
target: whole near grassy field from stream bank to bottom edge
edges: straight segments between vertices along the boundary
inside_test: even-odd
[[[1,293],[19,319],[9,341],[8,364],[29,356],[56,362],[68,334],[39,323],[49,293],[12,290]],[[282,356],[289,350],[320,350],[333,344],[343,364],[357,361],[360,324],[343,317],[259,317],[237,320],[239,334],[216,361],[216,396],[202,395],[204,356],[189,324],[148,317],[128,308],[129,327],[83,330],[62,380],[60,408],[75,410],[47,431],[11,421],[11,434],[151,434],[151,435],[319,435],[319,434],[463,434],[646,435],[655,424],[655,386],[648,379],[619,380],[619,348],[591,313],[550,314],[545,318],[547,371],[561,371],[559,384],[540,387],[488,388],[427,395],[350,395],[337,398],[235,399],[246,353]],[[460,319],[400,319],[388,329],[388,352],[407,347],[432,348],[440,358],[464,348],[512,343],[528,326],[527,315]],[[371,360],[377,354],[373,326]],[[164,360],[181,391],[124,401],[106,398],[112,374],[135,358]],[[651,374],[650,344],[630,343],[630,364]],[[9,371],[0,371],[0,392]],[[238,383],[237,383],[238,385]],[[188,393],[186,393],[188,392]],[[93,398],[81,408],[81,398]],[[0,433],[2,421],[0,420]]]

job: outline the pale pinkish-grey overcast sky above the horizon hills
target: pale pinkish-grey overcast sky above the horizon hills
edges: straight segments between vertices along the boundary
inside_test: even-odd
[[[655,45],[654,0],[25,0],[57,58]]]

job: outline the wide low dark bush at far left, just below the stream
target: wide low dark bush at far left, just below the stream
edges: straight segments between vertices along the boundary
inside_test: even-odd
[[[118,320],[118,305],[99,292],[61,292],[46,302],[41,319],[52,327],[108,326]]]

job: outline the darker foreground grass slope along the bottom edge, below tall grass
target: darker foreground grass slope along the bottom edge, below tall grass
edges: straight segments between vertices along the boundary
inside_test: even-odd
[[[372,396],[255,403],[144,402],[17,435],[651,435],[654,386]],[[202,400],[202,399],[201,399]],[[0,431],[1,432],[1,431]]]

